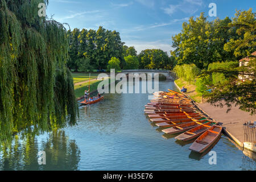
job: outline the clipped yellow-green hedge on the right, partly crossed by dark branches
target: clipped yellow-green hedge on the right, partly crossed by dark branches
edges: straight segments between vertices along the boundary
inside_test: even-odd
[[[213,69],[219,69],[219,68],[237,68],[239,66],[238,61],[230,61],[230,62],[217,62],[217,63],[211,63],[208,66],[208,71],[211,71]],[[227,81],[225,78],[225,75],[223,73],[212,73],[212,84],[216,85],[219,83],[223,83]]]

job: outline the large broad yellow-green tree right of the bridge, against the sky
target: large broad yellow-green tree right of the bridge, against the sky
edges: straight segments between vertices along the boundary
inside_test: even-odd
[[[232,61],[233,52],[224,50],[224,45],[230,39],[236,38],[236,28],[229,28],[231,20],[215,19],[207,21],[204,13],[196,20],[191,17],[183,23],[183,30],[172,37],[171,55],[177,64],[195,64],[200,69],[206,69],[210,63],[216,61]]]

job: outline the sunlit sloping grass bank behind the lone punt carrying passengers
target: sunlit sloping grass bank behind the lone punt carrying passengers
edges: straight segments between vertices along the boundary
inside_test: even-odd
[[[100,84],[102,80],[93,80],[90,81],[90,93],[94,92],[97,90],[98,88],[98,84]],[[79,98],[81,96],[84,96],[84,90],[88,90],[89,89],[89,82],[86,82],[84,84],[81,85],[76,85],[75,86],[75,95],[76,98]],[[94,93],[94,95],[96,95],[97,93]]]

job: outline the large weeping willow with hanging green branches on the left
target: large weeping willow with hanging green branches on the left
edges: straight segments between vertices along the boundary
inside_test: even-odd
[[[67,31],[39,3],[0,0],[0,140],[76,123]]]

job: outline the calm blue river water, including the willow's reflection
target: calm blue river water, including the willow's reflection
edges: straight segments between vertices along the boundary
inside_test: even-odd
[[[159,90],[177,90],[160,81]],[[0,148],[0,170],[255,170],[250,159],[225,135],[209,154],[198,155],[175,136],[166,136],[148,122],[144,105],[148,94],[106,94],[104,100],[80,107],[78,125],[20,139]],[[46,152],[46,165],[38,152]],[[248,155],[248,154],[247,154]],[[249,155],[253,155],[249,152]]]

